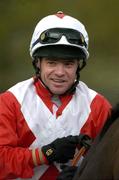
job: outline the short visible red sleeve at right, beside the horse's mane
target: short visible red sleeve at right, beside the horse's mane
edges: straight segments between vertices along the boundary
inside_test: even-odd
[[[100,94],[97,94],[91,103],[91,112],[81,129],[81,133],[95,138],[104,126],[108,116],[111,113],[112,106],[108,100]]]

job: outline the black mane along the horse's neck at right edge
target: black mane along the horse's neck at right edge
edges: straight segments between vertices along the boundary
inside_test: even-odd
[[[116,104],[115,106],[113,106],[113,108],[111,109],[111,114],[110,116],[107,118],[104,127],[100,133],[100,139],[104,136],[104,134],[106,133],[106,131],[108,130],[108,128],[111,126],[111,124],[119,117],[119,103]]]

